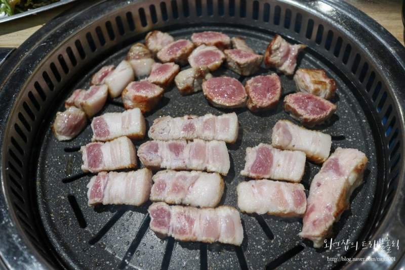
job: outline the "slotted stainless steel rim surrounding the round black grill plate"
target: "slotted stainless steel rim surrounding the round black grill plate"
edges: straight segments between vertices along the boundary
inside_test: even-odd
[[[327,58],[337,72],[350,78],[357,88],[365,89],[359,98],[371,109],[370,121],[375,120],[383,130],[382,136],[376,134],[376,137],[384,146],[380,157],[384,169],[380,176],[388,179],[384,190],[378,191],[381,205],[376,213],[378,220],[370,228],[370,238],[386,235],[405,239],[404,93],[401,81],[395,79],[405,75],[401,60],[405,59],[404,50],[386,31],[376,31],[375,22],[357,11],[350,11],[346,4],[329,1],[178,0],[115,4],[109,11],[110,3],[90,2],[83,11],[77,9],[76,14],[71,13],[74,15],[59,17],[15,52],[14,63],[9,61],[2,67],[4,83],[0,102],[2,108],[6,108],[7,118],[2,119],[0,131],[4,192],[0,197],[0,213],[5,220],[2,229],[8,232],[5,236],[12,237],[2,239],[7,244],[0,248],[0,254],[9,266],[13,266],[11,254],[20,252],[25,255],[21,264],[49,267],[60,263],[51,245],[43,243],[40,236],[44,232],[36,231],[41,228],[41,222],[38,213],[32,211],[32,204],[36,204],[32,198],[34,191],[27,183],[32,170],[24,169],[37,151],[34,146],[41,138],[38,134],[42,133],[39,130],[42,119],[52,117],[47,116],[50,104],[66,95],[70,90],[69,81],[94,61],[142,39],[151,29],[173,29],[185,21],[190,25],[233,23],[257,31],[271,29],[271,32],[282,33],[307,44],[314,54]],[[90,16],[84,16],[86,12]],[[75,21],[76,18],[80,20]],[[51,31],[54,28],[56,30]],[[42,38],[38,38],[41,35]],[[16,78],[21,80],[16,81]],[[16,89],[21,91],[18,93]],[[403,248],[395,253],[398,257],[402,254]],[[377,255],[389,254],[378,250],[363,250],[357,254],[358,257]],[[49,259],[44,260],[44,257]],[[379,266],[392,265],[381,262]]]

